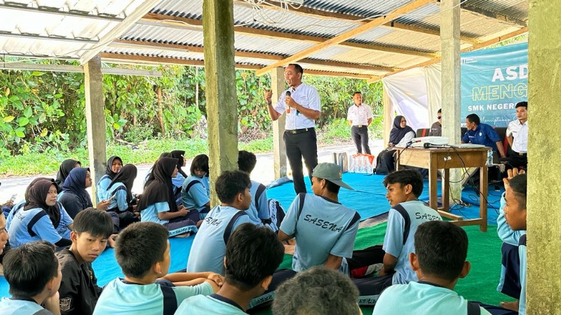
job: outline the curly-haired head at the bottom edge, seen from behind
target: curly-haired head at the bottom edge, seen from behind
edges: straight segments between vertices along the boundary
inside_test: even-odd
[[[356,286],[344,274],[325,267],[312,267],[276,289],[272,310],[274,315],[358,315],[362,311],[357,298]]]

